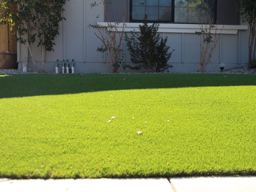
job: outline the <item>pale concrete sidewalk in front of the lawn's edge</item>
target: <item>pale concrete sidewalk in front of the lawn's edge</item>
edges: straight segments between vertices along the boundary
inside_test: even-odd
[[[171,183],[170,183],[170,182]],[[0,178],[0,192],[256,192],[256,176],[145,179]]]

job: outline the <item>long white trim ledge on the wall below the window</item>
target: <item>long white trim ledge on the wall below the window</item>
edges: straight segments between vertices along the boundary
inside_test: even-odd
[[[107,27],[106,22],[97,22],[97,25],[102,27]],[[112,23],[114,25],[114,23]],[[120,27],[118,27],[118,31],[122,30],[123,23],[119,23]],[[143,25],[143,23],[126,23],[125,32],[139,32],[139,25]],[[150,24],[149,24],[150,25]],[[207,25],[209,28],[209,25]],[[218,25],[217,34],[220,34],[221,29],[222,34],[237,34],[238,30],[248,30],[248,25]],[[212,29],[213,33],[215,29]],[[167,24],[161,23],[158,28],[158,32],[165,33],[195,33],[196,31],[201,31],[199,24]]]

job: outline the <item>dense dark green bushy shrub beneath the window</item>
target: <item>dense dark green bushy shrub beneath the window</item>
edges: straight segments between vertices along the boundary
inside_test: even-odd
[[[139,25],[140,34],[133,34],[129,37],[125,34],[128,51],[131,55],[131,61],[137,66],[131,67],[132,70],[148,69],[151,72],[163,72],[173,67],[168,64],[172,52],[168,53],[170,47],[166,46],[167,37],[163,39],[157,34],[159,24],[148,25],[147,15],[144,18],[143,25]],[[174,51],[174,50],[173,50]],[[169,71],[168,71],[169,72]]]

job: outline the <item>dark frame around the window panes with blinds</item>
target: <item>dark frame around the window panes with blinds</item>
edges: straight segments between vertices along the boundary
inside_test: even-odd
[[[215,19],[213,23],[215,24],[217,21],[217,1],[215,0]],[[159,8],[159,6],[158,6]],[[148,20],[148,23],[173,23],[173,24],[198,24],[198,23],[176,23],[174,20],[175,16],[175,0],[172,0],[172,18],[171,21],[153,21],[153,20]],[[132,0],[130,0],[130,23],[142,23],[143,20],[132,20]],[[208,24],[208,23],[207,23]]]

